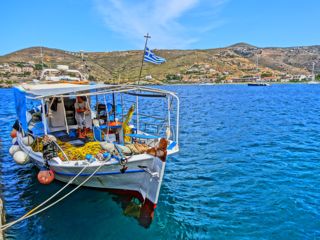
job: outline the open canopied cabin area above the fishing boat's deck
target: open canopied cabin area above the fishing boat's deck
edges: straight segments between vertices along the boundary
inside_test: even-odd
[[[53,135],[58,143],[74,147],[89,142],[123,146],[138,142],[152,147],[165,138],[172,153],[179,149],[179,99],[170,91],[56,83],[23,84],[14,94],[24,135]]]

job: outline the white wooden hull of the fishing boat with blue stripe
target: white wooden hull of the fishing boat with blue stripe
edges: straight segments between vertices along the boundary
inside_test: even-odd
[[[29,154],[34,165],[38,168],[44,166],[42,153],[33,152],[31,147],[22,143],[18,138],[20,148]],[[141,194],[143,199],[150,200],[157,204],[160,187],[165,170],[165,162],[149,154],[134,155],[126,163],[127,170],[122,173],[122,166],[115,160],[110,161],[64,161],[54,158],[49,161],[50,168],[55,172],[55,179],[62,182],[69,182],[84,167],[86,169],[77,177],[73,184],[79,185],[98,168],[100,169],[83,184],[85,187],[135,191]],[[87,166],[89,165],[89,166]]]

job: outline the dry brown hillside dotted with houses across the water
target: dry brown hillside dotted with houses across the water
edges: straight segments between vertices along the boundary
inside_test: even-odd
[[[91,79],[103,82],[135,82],[142,60],[142,51],[134,50],[88,52],[83,54],[85,61],[80,53],[51,48],[42,48],[42,52],[43,62],[48,67],[66,64],[71,68],[87,71]],[[154,52],[166,58],[167,62],[161,65],[144,63],[142,77],[151,75],[152,83],[221,82],[258,74],[278,79],[286,75],[307,76],[310,75],[312,62],[315,62],[316,69],[320,69],[320,46],[259,48],[247,43],[238,43],[217,49]],[[41,63],[40,47],[0,56],[0,64],[15,65],[28,62],[35,65]],[[31,76],[37,74],[38,71],[34,71]]]

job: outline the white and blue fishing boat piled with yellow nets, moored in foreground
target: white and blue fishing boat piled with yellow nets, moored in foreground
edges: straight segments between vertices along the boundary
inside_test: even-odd
[[[167,156],[179,151],[177,95],[140,85],[48,81],[54,80],[14,88],[13,159],[31,161],[43,184],[56,179],[132,194],[153,216]],[[79,101],[86,102],[84,112]]]

